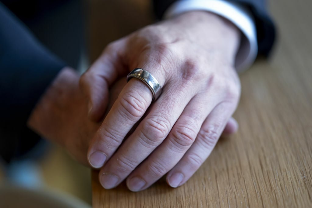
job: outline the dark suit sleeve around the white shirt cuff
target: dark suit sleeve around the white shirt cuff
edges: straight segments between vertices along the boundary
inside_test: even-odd
[[[161,19],[164,12],[177,0],[154,0],[154,11]],[[209,1],[209,0],[207,0]],[[256,24],[258,54],[268,56],[275,40],[275,27],[266,10],[265,0],[227,0],[250,9]]]

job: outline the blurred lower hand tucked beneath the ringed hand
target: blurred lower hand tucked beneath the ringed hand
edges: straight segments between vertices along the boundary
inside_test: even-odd
[[[125,79],[110,89],[108,108],[125,85]],[[100,122],[87,118],[87,102],[79,88],[79,75],[64,68],[46,90],[28,119],[28,126],[41,136],[65,147],[80,163],[88,165],[87,150],[90,139]]]

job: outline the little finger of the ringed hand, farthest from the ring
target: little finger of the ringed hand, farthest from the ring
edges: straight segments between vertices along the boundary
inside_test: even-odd
[[[202,165],[215,147],[222,130],[236,108],[232,103],[218,104],[202,124],[191,148],[167,175],[167,183],[178,187],[185,183]]]

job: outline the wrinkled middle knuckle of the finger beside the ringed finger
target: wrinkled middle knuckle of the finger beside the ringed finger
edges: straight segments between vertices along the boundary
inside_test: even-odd
[[[162,140],[166,137],[169,129],[170,122],[168,119],[159,116],[147,119],[143,127],[145,134],[150,135],[155,140]]]

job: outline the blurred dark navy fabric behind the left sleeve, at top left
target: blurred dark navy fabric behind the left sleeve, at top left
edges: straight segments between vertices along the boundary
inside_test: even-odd
[[[82,0],[0,0],[34,34],[37,41],[77,68],[85,49]]]

